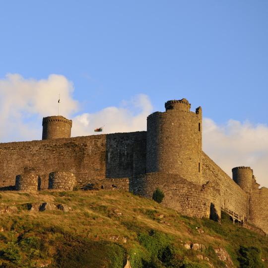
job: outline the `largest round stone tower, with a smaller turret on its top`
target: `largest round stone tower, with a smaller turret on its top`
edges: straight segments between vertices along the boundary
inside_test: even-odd
[[[146,172],[178,174],[194,183],[202,178],[202,112],[187,99],[165,103],[166,112],[147,117]]]

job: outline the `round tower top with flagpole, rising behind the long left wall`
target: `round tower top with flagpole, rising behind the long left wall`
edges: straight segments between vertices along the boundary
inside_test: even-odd
[[[63,116],[48,116],[43,118],[42,139],[70,137],[72,121]]]

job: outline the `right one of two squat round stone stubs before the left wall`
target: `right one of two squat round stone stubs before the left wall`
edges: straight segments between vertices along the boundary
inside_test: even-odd
[[[72,191],[75,182],[75,175],[70,172],[57,171],[49,174],[50,190]]]

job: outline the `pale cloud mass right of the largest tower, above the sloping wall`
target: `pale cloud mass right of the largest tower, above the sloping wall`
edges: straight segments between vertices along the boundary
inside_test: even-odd
[[[216,125],[203,119],[203,150],[227,174],[237,166],[250,166],[257,182],[268,187],[268,126],[229,120]]]

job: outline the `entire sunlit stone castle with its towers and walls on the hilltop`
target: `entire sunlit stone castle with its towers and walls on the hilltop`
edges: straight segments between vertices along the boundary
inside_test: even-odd
[[[202,151],[202,110],[186,99],[165,103],[147,131],[70,137],[72,121],[43,118],[42,140],[0,143],[0,190],[120,189],[152,198],[182,214],[251,222],[268,233],[268,189],[250,167],[231,179]]]

